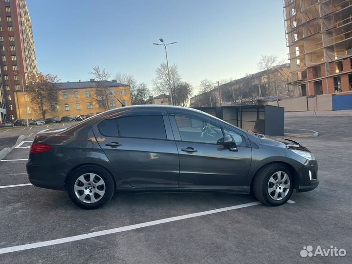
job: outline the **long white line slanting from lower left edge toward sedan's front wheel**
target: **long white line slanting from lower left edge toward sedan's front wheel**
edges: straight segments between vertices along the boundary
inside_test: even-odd
[[[219,208],[219,209],[215,209],[215,210],[203,211],[203,212],[194,213],[194,214],[188,214],[188,215],[183,215],[183,216],[178,216],[178,217],[170,217],[170,218],[165,218],[165,219],[160,219],[160,220],[155,220],[155,221],[150,221],[150,222],[144,222],[144,223],[139,223],[139,224],[132,224],[132,225],[127,225],[127,226],[122,226],[122,227],[87,233],[87,234],[78,235],[78,236],[48,240],[48,241],[44,241],[44,242],[24,244],[24,245],[19,245],[19,246],[4,247],[4,248],[0,248],[0,254],[9,253],[9,252],[16,252],[16,251],[32,249],[32,248],[38,248],[38,247],[44,247],[44,246],[50,246],[50,245],[57,245],[57,244],[73,242],[73,241],[78,241],[78,240],[83,240],[83,239],[88,239],[88,238],[100,237],[100,236],[104,236],[104,235],[120,233],[120,232],[124,232],[124,231],[139,229],[139,228],[157,225],[157,224],[163,224],[163,223],[174,222],[174,221],[179,221],[179,220],[184,220],[184,219],[189,219],[189,218],[194,218],[194,217],[217,214],[220,212],[225,212],[225,211],[230,211],[230,210],[235,210],[235,209],[241,209],[241,208],[254,206],[254,205],[258,205],[258,204],[261,204],[261,202],[259,202],[259,201],[249,202],[249,203],[239,204],[239,205],[235,205],[235,206]]]

